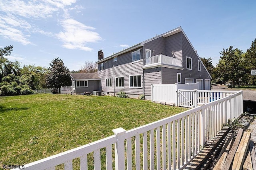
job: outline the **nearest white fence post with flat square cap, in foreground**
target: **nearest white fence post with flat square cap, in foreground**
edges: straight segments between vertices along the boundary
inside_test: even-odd
[[[115,165],[116,170],[124,170],[125,161],[124,161],[124,133],[125,129],[119,127],[112,130],[116,135],[117,142],[115,143]]]

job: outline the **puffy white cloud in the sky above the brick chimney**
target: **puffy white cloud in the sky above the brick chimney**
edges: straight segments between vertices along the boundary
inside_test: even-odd
[[[86,26],[73,19],[67,19],[60,23],[64,31],[56,34],[60,40],[64,42],[62,47],[67,49],[80,49],[84,51],[92,51],[92,48],[86,47],[86,43],[95,43],[101,40],[100,35],[94,31],[94,27]]]

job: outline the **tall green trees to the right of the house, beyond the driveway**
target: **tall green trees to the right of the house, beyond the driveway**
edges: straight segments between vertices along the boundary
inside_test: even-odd
[[[256,70],[256,39],[246,52],[233,46],[223,48],[216,67],[212,65],[211,57],[201,60],[211,74],[212,82],[231,83],[233,88],[236,84],[256,84],[256,76],[251,75],[251,70]]]

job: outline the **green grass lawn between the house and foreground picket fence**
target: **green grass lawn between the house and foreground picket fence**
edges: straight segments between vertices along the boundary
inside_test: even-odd
[[[0,98],[0,169],[23,165],[180,113],[182,107],[111,96],[34,94]]]

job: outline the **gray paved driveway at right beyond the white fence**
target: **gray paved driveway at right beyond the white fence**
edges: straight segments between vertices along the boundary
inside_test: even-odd
[[[234,88],[227,88],[224,85],[212,85],[213,89],[212,90],[238,90]],[[256,90],[243,90],[243,98],[244,100],[252,100],[256,101]]]

